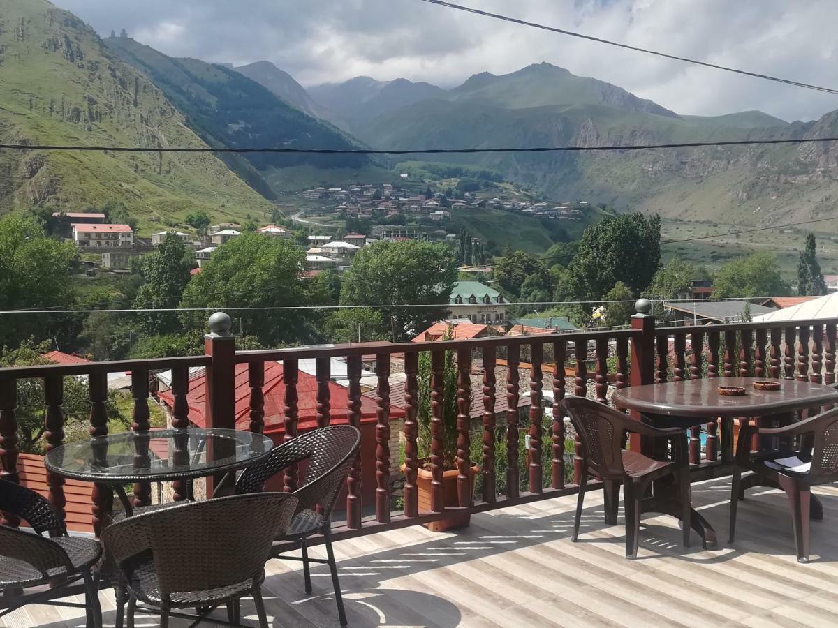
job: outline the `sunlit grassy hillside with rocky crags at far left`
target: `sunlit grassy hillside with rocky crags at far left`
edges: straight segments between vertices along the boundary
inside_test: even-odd
[[[206,147],[145,75],[44,0],[0,0],[0,140]],[[271,207],[211,154],[0,152],[0,211],[78,211],[118,199],[143,231],[204,208],[243,219]]]

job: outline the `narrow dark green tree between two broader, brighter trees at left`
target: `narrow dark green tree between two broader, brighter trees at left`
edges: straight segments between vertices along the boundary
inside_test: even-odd
[[[192,252],[178,234],[169,232],[158,250],[142,257],[139,270],[144,283],[137,291],[134,307],[139,310],[176,307],[184,296],[189,270],[193,268]],[[174,332],[180,327],[174,311],[139,312],[137,318],[142,332],[148,336]]]

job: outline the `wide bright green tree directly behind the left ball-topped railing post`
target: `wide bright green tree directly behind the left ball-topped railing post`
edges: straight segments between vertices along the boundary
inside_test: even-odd
[[[310,297],[303,285],[305,251],[280,238],[241,234],[221,245],[184,290],[183,307],[217,310],[241,307],[306,306]],[[211,312],[183,312],[181,321],[205,330]],[[314,337],[308,311],[231,310],[234,330],[251,335],[266,347],[307,342]]]

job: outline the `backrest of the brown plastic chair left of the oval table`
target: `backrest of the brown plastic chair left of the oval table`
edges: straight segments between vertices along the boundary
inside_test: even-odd
[[[622,479],[623,430],[629,418],[592,399],[568,397],[561,400],[560,412],[570,417],[582,443],[582,456],[588,470],[603,479]]]

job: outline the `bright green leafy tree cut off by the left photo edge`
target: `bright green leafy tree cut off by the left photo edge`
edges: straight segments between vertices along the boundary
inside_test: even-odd
[[[33,219],[0,219],[0,309],[23,310],[72,306],[75,291],[70,273],[78,256],[72,243],[47,238]],[[78,321],[69,315],[10,315],[0,325],[3,347],[17,347],[24,338],[38,340],[59,334],[62,345],[75,339]]]

